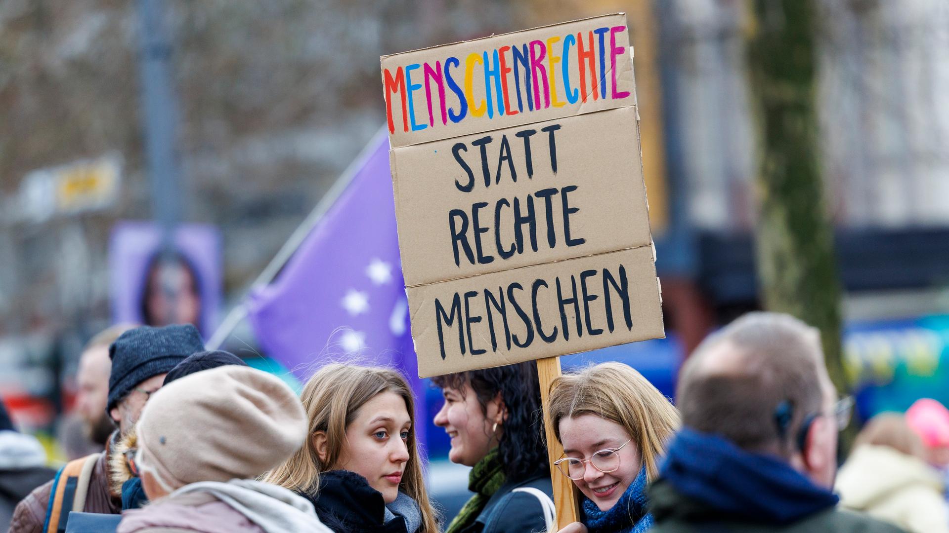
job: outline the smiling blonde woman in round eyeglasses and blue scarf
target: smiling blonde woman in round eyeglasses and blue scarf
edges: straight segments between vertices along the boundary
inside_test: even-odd
[[[554,379],[549,416],[564,446],[554,464],[583,494],[590,533],[641,533],[652,526],[646,486],[659,473],[679,412],[646,378],[618,362]],[[570,524],[566,531],[583,531]]]

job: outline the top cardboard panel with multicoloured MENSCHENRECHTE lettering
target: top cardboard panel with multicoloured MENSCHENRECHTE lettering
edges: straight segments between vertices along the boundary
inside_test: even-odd
[[[601,31],[602,28],[606,30]],[[614,28],[616,28],[615,31]],[[586,52],[590,51],[592,44],[595,56],[594,72],[591,74],[586,66],[588,63],[585,63],[584,83],[586,83],[587,98],[583,98],[584,93],[580,93],[580,98],[571,103],[568,99],[568,84],[571,85],[570,92],[580,89],[579,43],[566,47],[565,45],[568,45],[568,36],[572,36],[574,41],[580,41],[577,39],[578,35],[582,37]],[[602,54],[601,35],[603,35]],[[509,48],[505,48],[506,46]],[[515,82],[513,65],[518,62],[514,57],[513,48],[523,51],[524,46],[527,46],[527,56],[533,53],[532,57],[537,60],[538,69],[534,70],[535,64],[531,64],[530,61],[519,63],[527,64],[528,68],[519,68]],[[632,60],[626,53],[628,47],[626,17],[623,13],[616,13],[453,45],[434,46],[383,56],[381,58],[382,91],[390,123],[392,147],[398,148],[536,121],[632,106],[635,103],[635,96]],[[498,53],[496,62],[493,57],[495,51]],[[567,53],[566,60],[564,59],[565,52]],[[456,64],[449,65],[449,58],[455,58]],[[601,62],[601,58],[605,58],[605,61]],[[488,76],[485,75],[485,60],[487,60]],[[566,68],[564,64],[567,65]],[[503,73],[494,76],[495,66],[501,67]],[[505,66],[511,70],[506,70]],[[467,76],[469,67],[471,76]],[[429,76],[426,76],[426,68],[429,69]],[[530,78],[530,83],[526,83],[526,71],[537,73],[537,76]],[[565,83],[565,72],[568,83]],[[386,83],[387,75],[388,84]],[[532,74],[529,75],[532,76]],[[448,82],[448,78],[452,78],[456,83],[457,90]],[[468,80],[471,82],[470,87],[466,85]],[[538,81],[538,88],[532,94],[540,105],[531,110],[527,96],[535,80]],[[601,80],[605,83],[600,83]],[[498,85],[498,83],[502,84]],[[596,98],[591,92],[593,83],[596,83],[598,87],[603,86]],[[490,94],[486,91],[489,86],[492,88]],[[500,90],[498,90],[499,86]],[[502,114],[497,101],[499,95],[502,97],[500,100],[503,101],[505,94],[508,95],[508,104],[503,106],[504,113]],[[516,98],[518,94],[521,98],[519,104]],[[404,97],[404,105],[402,97]],[[465,100],[464,104],[461,102],[462,97]],[[493,103],[490,111],[488,110],[489,98]],[[474,105],[467,105],[468,101]],[[445,104],[444,114],[441,112],[442,102]],[[448,111],[452,110],[456,115],[461,115],[462,107],[467,107],[464,118],[457,122],[451,119]],[[478,111],[480,116],[475,116]]]

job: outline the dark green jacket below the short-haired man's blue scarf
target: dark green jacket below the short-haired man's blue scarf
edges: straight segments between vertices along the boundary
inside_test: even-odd
[[[764,524],[741,517],[716,513],[716,509],[680,494],[668,482],[659,480],[649,488],[656,524],[649,533],[901,533],[895,525],[875,521],[865,515],[832,508],[809,515],[791,524]]]

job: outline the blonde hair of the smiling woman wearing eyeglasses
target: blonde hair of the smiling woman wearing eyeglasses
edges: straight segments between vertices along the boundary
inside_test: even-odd
[[[640,450],[650,481],[659,474],[659,458],[679,429],[679,411],[639,372],[605,362],[557,377],[550,384],[549,416],[560,438],[565,417],[593,414],[615,422]]]

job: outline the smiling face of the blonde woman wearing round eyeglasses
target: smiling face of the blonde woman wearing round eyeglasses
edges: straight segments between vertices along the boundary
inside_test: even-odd
[[[584,476],[573,480],[584,496],[600,510],[605,511],[616,505],[640,473],[640,450],[636,443],[629,442],[631,438],[623,426],[593,414],[560,420],[560,440],[567,457],[589,459],[597,451],[623,447],[617,451],[620,459],[618,469],[602,472],[587,461],[584,463]],[[626,445],[623,446],[623,443]]]

